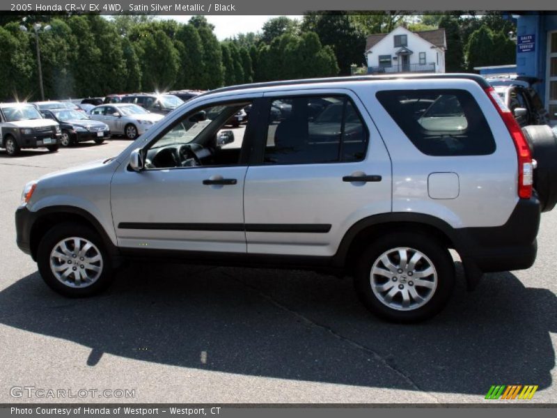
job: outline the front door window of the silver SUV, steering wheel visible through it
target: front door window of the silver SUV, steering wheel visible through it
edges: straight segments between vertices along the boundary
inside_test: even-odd
[[[211,104],[189,112],[145,150],[146,169],[240,164],[251,102]]]

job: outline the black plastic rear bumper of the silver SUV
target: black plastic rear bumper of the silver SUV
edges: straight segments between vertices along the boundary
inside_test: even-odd
[[[481,272],[530,268],[538,251],[540,201],[520,199],[507,222],[489,228],[455,229],[455,243],[462,261]]]

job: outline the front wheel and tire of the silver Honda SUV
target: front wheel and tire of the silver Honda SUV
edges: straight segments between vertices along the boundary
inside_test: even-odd
[[[88,247],[84,253],[75,251],[75,238],[81,251]],[[95,295],[113,279],[111,259],[100,236],[74,222],[58,224],[45,234],[38,246],[37,265],[46,284],[67,297]]]

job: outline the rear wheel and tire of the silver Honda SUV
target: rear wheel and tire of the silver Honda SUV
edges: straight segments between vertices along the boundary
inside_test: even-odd
[[[406,266],[399,250],[406,254]],[[391,261],[389,268],[382,261],[385,256]],[[372,268],[379,274],[371,274]],[[455,286],[455,265],[448,249],[427,235],[393,232],[363,250],[354,286],[364,306],[379,318],[417,323],[438,314],[447,304]],[[393,293],[390,302],[389,293]]]

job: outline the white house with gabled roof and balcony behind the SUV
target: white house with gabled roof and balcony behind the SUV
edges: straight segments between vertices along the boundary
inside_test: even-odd
[[[368,36],[368,74],[445,72],[445,29],[412,32],[398,26],[391,33]]]

